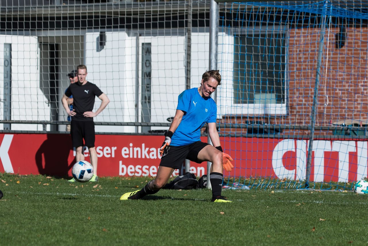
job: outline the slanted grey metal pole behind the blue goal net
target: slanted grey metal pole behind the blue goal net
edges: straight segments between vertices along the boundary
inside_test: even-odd
[[[325,1],[325,5],[323,6],[324,12],[326,11],[327,3],[328,1]],[[312,113],[311,113],[311,135],[309,137],[307,168],[305,171],[305,188],[309,188],[309,176],[311,175],[313,135],[314,135],[314,128],[315,128],[315,117],[317,114],[317,107],[318,107],[317,105],[318,104],[318,87],[319,87],[319,76],[321,75],[320,68],[321,68],[321,59],[322,59],[322,51],[323,51],[323,41],[325,39],[325,30],[326,30],[326,14],[322,16],[321,35],[319,36],[316,80],[315,80],[315,86],[314,86],[314,96],[313,96]]]

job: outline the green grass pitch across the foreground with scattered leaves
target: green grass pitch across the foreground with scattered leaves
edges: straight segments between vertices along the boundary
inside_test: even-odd
[[[148,178],[73,183],[0,174],[0,245],[367,244],[368,195],[332,191],[161,190],[120,201]]]

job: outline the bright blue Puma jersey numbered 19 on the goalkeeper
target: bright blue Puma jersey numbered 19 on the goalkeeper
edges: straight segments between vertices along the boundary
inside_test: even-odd
[[[216,122],[215,101],[211,97],[201,97],[198,88],[183,91],[178,97],[176,109],[184,111],[184,115],[171,138],[172,146],[189,145],[200,141],[201,128],[204,124]]]

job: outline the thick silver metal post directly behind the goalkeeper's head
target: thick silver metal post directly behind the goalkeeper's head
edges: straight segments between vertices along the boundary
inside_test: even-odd
[[[219,33],[219,5],[215,0],[210,2],[209,10],[209,70],[217,69],[217,38]],[[213,94],[213,100],[216,102],[216,91]],[[209,134],[207,142],[212,144]],[[209,174],[212,163],[207,162],[207,188],[211,188]]]

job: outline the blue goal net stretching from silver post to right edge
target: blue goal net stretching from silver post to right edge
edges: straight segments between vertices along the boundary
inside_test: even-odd
[[[227,186],[367,178],[368,4],[216,2],[220,131],[224,149],[241,150]]]

